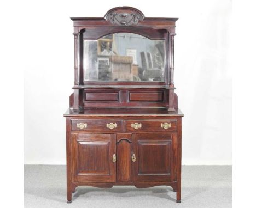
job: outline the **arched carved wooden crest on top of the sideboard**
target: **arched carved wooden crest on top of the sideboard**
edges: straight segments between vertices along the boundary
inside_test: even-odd
[[[105,15],[105,19],[113,25],[132,26],[143,21],[144,15],[132,7],[117,7],[110,9]]]

